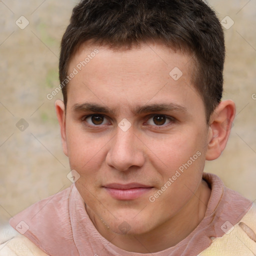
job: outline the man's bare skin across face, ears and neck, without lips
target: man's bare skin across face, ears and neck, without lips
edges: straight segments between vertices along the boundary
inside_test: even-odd
[[[95,48],[98,53],[68,83],[66,109],[61,100],[55,102],[63,151],[80,175],[75,185],[94,226],[111,243],[140,253],[166,249],[205,214],[210,188],[201,179],[204,162],[224,149],[234,103],[220,102],[207,125],[203,101],[190,81],[190,56],[158,43],[118,50],[83,44],[68,73]],[[169,75],[174,67],[182,71],[178,80]],[[84,103],[110,110],[86,110]],[[136,112],[152,104],[175,107]],[[90,114],[103,122],[93,124]],[[156,125],[153,117],[159,115],[166,119]],[[126,131],[118,126],[123,118],[131,125]],[[200,156],[149,201],[196,152]],[[151,188],[138,198],[118,200],[104,187],[131,182]]]

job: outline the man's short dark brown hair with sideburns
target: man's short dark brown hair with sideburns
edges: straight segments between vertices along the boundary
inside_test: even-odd
[[[81,0],[61,40],[59,80],[84,42],[131,47],[150,40],[195,56],[192,82],[208,122],[223,90],[224,35],[214,11],[202,0]],[[66,106],[66,84],[62,86]]]

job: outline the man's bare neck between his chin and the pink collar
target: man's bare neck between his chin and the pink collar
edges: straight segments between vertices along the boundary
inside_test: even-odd
[[[207,183],[202,180],[175,216],[150,232],[139,235],[117,235],[100,220],[93,217],[92,222],[103,237],[121,249],[138,253],[157,252],[176,245],[193,231],[205,215],[210,193]]]

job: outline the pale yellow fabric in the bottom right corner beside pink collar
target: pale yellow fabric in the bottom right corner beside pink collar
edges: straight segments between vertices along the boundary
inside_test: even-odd
[[[228,219],[222,224],[225,234],[215,238],[211,245],[199,255],[255,255],[256,254],[256,204],[252,203],[248,212],[232,225]]]

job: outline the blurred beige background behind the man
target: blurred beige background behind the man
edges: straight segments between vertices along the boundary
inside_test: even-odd
[[[62,95],[58,93],[51,100],[46,95],[59,84],[59,42],[75,2],[0,1],[2,221],[71,184],[66,177],[70,169],[62,153],[54,111],[54,101]],[[226,28],[234,22],[224,28],[223,98],[235,101],[237,115],[226,149],[218,159],[206,162],[205,171],[216,173],[225,185],[255,200],[256,1],[207,2],[220,20],[224,18]],[[26,22],[29,24],[24,28]],[[19,121],[21,118],[25,121]]]

